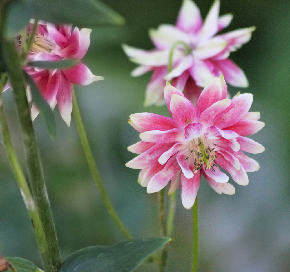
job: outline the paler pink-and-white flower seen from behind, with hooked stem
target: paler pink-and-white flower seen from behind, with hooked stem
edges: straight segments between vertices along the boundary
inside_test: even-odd
[[[162,24],[157,30],[149,31],[156,49],[146,51],[123,46],[130,60],[140,65],[132,71],[132,76],[154,71],[146,89],[146,106],[164,103],[165,80],[172,80],[172,85],[194,104],[201,93],[200,87],[205,87],[216,76],[223,75],[233,86],[248,87],[244,72],[228,57],[251,39],[255,27],[216,35],[233,19],[232,14],[219,17],[219,10],[220,1],[215,0],[203,22],[196,4],[184,0],[175,26]],[[173,69],[170,71],[171,52]]]

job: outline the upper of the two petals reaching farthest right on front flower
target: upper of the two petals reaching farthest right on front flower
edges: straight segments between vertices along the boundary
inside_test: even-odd
[[[234,130],[240,136],[248,136],[255,134],[265,126],[265,123],[253,120],[240,120],[233,126],[227,127],[226,129]]]

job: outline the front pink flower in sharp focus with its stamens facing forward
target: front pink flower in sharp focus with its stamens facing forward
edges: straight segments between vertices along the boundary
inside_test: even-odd
[[[139,183],[148,193],[163,189],[171,180],[169,194],[181,186],[182,203],[190,209],[203,175],[219,194],[234,194],[227,183],[225,169],[239,185],[249,182],[247,172],[259,164],[242,151],[257,154],[265,148],[245,136],[264,127],[259,112],[248,112],[252,94],[226,98],[224,78],[214,78],[202,91],[196,107],[175,87],[164,88],[167,108],[172,116],[136,113],[128,121],[140,132],[141,141],[128,147],[140,154],[126,166],[142,169]]]

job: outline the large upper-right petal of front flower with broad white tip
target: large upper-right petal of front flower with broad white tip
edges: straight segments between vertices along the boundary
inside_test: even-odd
[[[231,99],[231,105],[215,117],[213,124],[218,128],[228,128],[236,124],[249,111],[252,102],[252,94],[235,96]]]

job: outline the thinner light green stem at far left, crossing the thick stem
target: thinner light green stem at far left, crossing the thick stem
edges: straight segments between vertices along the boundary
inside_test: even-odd
[[[2,130],[2,135],[3,135],[3,142],[6,147],[6,151],[7,151],[9,161],[10,161],[11,168],[14,172],[18,186],[20,188],[23,201],[25,203],[26,209],[31,219],[32,227],[34,230],[34,235],[35,235],[38,247],[39,247],[44,270],[47,272],[53,272],[54,270],[52,269],[52,262],[50,259],[47,242],[46,242],[44,231],[41,225],[39,214],[35,207],[35,202],[30,193],[30,189],[26,182],[26,178],[21,170],[21,167],[17,160],[17,156],[13,149],[7,121],[4,114],[4,109],[3,109],[3,104],[2,104],[3,100],[1,97],[1,93],[6,84],[6,81],[7,81],[7,77],[6,75],[3,75],[2,80],[1,80],[1,86],[0,86],[0,122],[1,122],[1,130]]]

